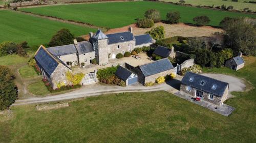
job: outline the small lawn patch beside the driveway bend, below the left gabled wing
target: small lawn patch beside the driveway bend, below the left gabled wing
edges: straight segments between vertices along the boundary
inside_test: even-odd
[[[34,83],[31,83],[28,85],[28,90],[30,93],[34,95],[47,95],[51,94],[50,91],[47,89],[46,85],[44,82],[37,81]]]

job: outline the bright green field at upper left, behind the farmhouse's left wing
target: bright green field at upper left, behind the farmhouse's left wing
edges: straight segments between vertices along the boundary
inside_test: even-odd
[[[22,42],[29,45],[49,43],[52,36],[61,28],[68,28],[75,36],[86,35],[95,29],[0,10],[0,43],[3,41]]]

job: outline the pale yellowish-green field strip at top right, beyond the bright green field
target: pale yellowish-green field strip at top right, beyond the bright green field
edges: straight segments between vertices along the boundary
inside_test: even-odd
[[[180,0],[160,0],[161,2],[173,2],[179,3]],[[231,0],[223,1],[223,0],[185,0],[185,4],[190,4],[193,6],[212,6],[214,7],[226,5],[233,6],[235,10],[243,10],[244,8],[249,8],[252,11],[256,11],[256,4],[251,3],[243,3],[245,0],[239,0],[238,2],[231,2]],[[253,0],[250,0],[253,1]],[[246,2],[249,2],[248,0]]]

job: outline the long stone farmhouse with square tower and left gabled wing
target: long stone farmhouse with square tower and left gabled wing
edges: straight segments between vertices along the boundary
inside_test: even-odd
[[[149,34],[133,35],[132,27],[129,31],[105,35],[100,29],[93,35],[90,32],[89,41],[45,48],[40,46],[35,53],[35,61],[44,78],[47,78],[53,89],[57,83],[66,83],[65,73],[71,71],[71,66],[92,64],[96,59],[98,65],[109,64],[118,53],[131,52],[134,48],[150,46],[154,39]]]

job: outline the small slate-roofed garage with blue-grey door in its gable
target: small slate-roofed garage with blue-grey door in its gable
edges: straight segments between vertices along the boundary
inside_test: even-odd
[[[121,66],[118,66],[115,75],[125,82],[125,85],[131,85],[138,81],[138,76]]]

